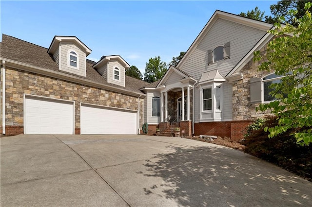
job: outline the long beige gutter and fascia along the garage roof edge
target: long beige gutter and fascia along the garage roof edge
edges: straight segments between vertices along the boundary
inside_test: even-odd
[[[6,58],[1,58],[1,60],[2,60],[2,62],[3,61],[6,62],[6,66],[13,67],[16,69],[26,70],[26,71],[34,72],[34,73],[41,74],[41,75],[47,75],[49,77],[59,78],[59,79],[65,80],[65,81],[70,81],[70,82],[74,82],[74,83],[78,83],[78,84],[84,84],[87,86],[93,86],[93,87],[98,87],[98,88],[102,88],[102,89],[107,89],[107,90],[111,90],[114,92],[125,93],[125,94],[136,96],[136,97],[139,97],[141,95],[146,96],[145,94],[142,94],[142,93],[133,92],[133,91],[130,91],[127,89],[116,88],[113,86],[107,86],[104,84],[97,83],[95,81],[81,79],[81,78],[73,76],[73,75],[65,74],[65,73],[50,70],[50,69],[44,69],[44,68],[32,66],[29,64],[25,64],[25,63],[20,63],[18,61],[6,59]]]

